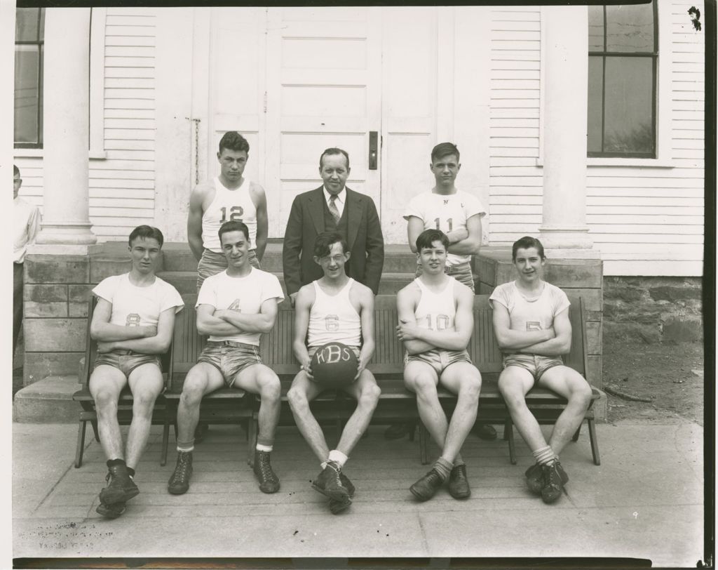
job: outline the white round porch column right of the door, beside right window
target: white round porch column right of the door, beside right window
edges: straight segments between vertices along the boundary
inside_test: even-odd
[[[539,231],[551,257],[587,257],[588,9],[544,6],[544,206]],[[558,255],[557,255],[558,254]]]

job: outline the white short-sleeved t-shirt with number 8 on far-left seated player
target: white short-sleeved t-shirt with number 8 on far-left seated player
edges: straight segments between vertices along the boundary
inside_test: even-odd
[[[163,311],[175,307],[174,312],[179,313],[185,307],[177,289],[157,276],[149,287],[137,287],[130,282],[129,273],[112,275],[92,292],[112,303],[110,323],[119,326],[157,326]]]

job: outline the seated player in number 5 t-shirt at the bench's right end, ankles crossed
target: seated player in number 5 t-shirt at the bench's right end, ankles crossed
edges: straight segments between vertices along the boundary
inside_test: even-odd
[[[526,470],[528,488],[546,503],[556,501],[569,476],[559,453],[581,425],[591,403],[591,387],[561,354],[571,350],[569,299],[542,279],[546,256],[538,239],[524,236],[514,242],[511,259],[517,279],[499,285],[490,296],[493,326],[503,352],[498,389],[518,433],[531,449],[536,464]],[[526,406],[533,387],[549,388],[568,403],[554,424],[549,442]]]

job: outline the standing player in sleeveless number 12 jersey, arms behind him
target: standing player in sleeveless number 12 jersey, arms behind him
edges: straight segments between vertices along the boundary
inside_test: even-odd
[[[264,188],[243,177],[249,143],[235,131],[220,139],[220,175],[198,184],[190,196],[187,239],[197,259],[197,292],[202,282],[227,268],[218,231],[225,221],[239,221],[249,230],[249,262],[259,269],[267,244],[267,204]]]

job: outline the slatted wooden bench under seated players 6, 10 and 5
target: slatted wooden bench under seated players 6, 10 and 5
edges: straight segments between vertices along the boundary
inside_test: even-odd
[[[498,376],[502,370],[502,356],[495,335],[493,334],[492,311],[488,295],[476,295],[474,298],[474,332],[467,347],[472,362],[482,375],[482,388],[479,397],[478,418],[486,423],[503,423],[504,438],[508,440],[509,457],[516,464],[516,449],[513,438],[513,422],[505,406],[503,397],[498,391]],[[583,318],[583,306],[580,298],[571,299],[569,318],[572,323],[572,349],[564,356],[567,366],[584,375],[586,370],[586,332]],[[416,408],[416,396],[404,387],[404,346],[396,338],[396,297],[394,295],[378,295],[375,298],[374,326],[376,351],[369,364],[381,387],[381,397],[371,423],[418,422],[419,412]],[[281,380],[281,413],[280,425],[293,425],[294,418],[286,392],[289,390],[299,366],[292,354],[292,334],[294,331],[294,311],[288,302],[281,303],[279,315],[274,328],[261,339],[261,354],[265,364],[274,369]],[[592,388],[592,400],[584,420],[589,426],[589,436],[593,460],[600,465],[598,441],[595,432],[595,418],[592,405],[600,397],[600,392]],[[448,414],[452,413],[456,404],[456,396],[439,388],[439,401]],[[526,403],[536,415],[539,423],[554,423],[567,400],[551,390],[535,388],[528,392]],[[326,390],[311,404],[312,413],[318,421],[331,420],[337,426],[337,439],[342,423],[353,413],[355,403],[340,390]],[[249,438],[248,462],[253,459],[254,437],[257,432],[258,397],[253,405],[254,428]],[[419,423],[419,450],[421,463],[426,464],[428,433]],[[579,437],[579,430],[574,434],[574,441]],[[413,436],[413,434],[412,434]],[[413,437],[411,437],[413,439]]]

